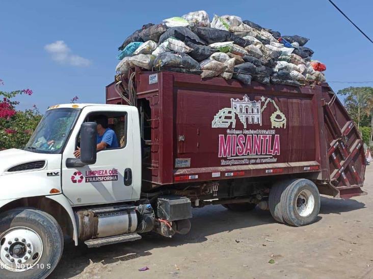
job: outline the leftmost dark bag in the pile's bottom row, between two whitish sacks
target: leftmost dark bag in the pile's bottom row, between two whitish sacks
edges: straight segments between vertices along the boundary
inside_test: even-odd
[[[153,66],[155,70],[161,70],[165,67],[201,70],[199,63],[191,56],[185,53],[175,52],[163,52],[159,54],[155,58]]]

